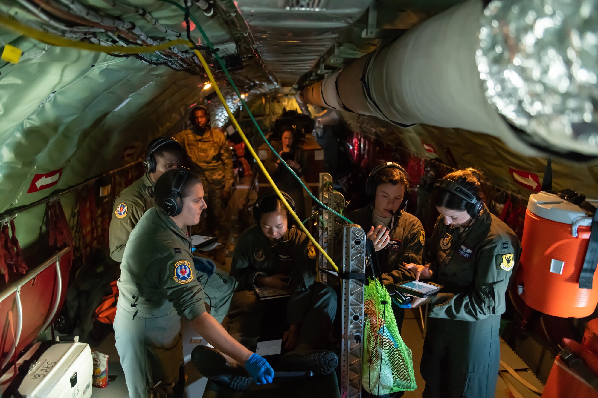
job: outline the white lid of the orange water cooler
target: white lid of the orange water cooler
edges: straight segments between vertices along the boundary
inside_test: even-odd
[[[590,225],[592,221],[579,206],[548,192],[529,195],[527,210],[538,217],[568,225],[576,221],[581,221],[578,225]]]

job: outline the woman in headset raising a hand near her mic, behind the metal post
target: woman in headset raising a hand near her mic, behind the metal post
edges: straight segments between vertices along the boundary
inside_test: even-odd
[[[347,215],[359,224],[372,240],[385,286],[394,290],[394,284],[413,280],[413,271],[404,264],[422,264],[425,232],[422,223],[405,212],[405,197],[409,192],[409,177],[398,163],[384,162],[375,167],[365,182],[371,203]],[[392,306],[396,326],[401,332],[405,311]]]

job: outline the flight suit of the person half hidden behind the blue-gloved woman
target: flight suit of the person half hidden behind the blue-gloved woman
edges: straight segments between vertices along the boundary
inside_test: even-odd
[[[143,177],[123,189],[123,192],[115,198],[109,236],[110,256],[114,261],[123,261],[124,249],[133,228],[141,216],[155,206],[154,200],[148,195],[148,188],[153,186],[154,182],[145,173]],[[195,255],[205,257],[197,253]],[[236,282],[218,263],[216,263],[216,273],[221,278],[214,275],[208,279],[206,274],[199,273],[198,280],[202,283],[203,291],[210,305],[210,314],[222,323],[228,313]]]

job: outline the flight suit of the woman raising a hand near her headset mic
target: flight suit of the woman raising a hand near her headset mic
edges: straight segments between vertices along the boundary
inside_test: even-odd
[[[378,226],[374,225],[373,210],[374,204],[371,203],[362,209],[350,212],[347,218],[361,226],[367,234],[372,226],[374,228]],[[376,256],[382,271],[382,281],[386,289],[392,292],[394,284],[415,279],[413,271],[405,268],[403,263],[422,264],[426,235],[419,219],[407,212],[402,212],[401,217],[392,216],[389,229],[390,241],[384,249],[376,252]],[[392,312],[395,314],[396,326],[400,333],[405,310],[398,305],[393,305]]]

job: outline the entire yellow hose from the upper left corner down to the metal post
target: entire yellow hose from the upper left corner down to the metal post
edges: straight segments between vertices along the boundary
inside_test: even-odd
[[[22,23],[18,22],[17,20],[14,20],[10,17],[8,17],[8,18],[5,17],[3,14],[0,14],[0,25],[10,27],[12,30],[16,30],[17,32],[21,33],[22,35],[29,36],[30,38],[39,40],[39,41],[47,43],[47,44],[56,45],[58,47],[78,48],[80,50],[99,51],[102,53],[121,53],[121,54],[151,53],[153,51],[164,50],[165,48],[169,48],[169,47],[172,47],[173,45],[179,45],[179,44],[185,45],[186,47],[191,47],[191,48],[195,47],[194,44],[192,44],[191,42],[189,42],[185,39],[167,41],[160,45],[152,45],[152,46],[147,46],[147,47],[145,47],[145,46],[120,47],[120,46],[116,46],[116,45],[105,46],[105,45],[84,43],[84,42],[80,42],[80,41],[75,41],[75,40],[71,40],[71,39],[65,39],[65,38],[61,38],[58,36],[50,35],[48,33],[41,32],[41,30],[31,29],[29,26],[23,25]],[[208,74],[208,78],[210,79],[210,82],[212,83],[212,86],[214,87],[216,94],[218,94],[218,98],[222,102],[222,105],[224,106],[224,109],[226,110],[228,117],[230,117],[230,120],[233,122],[234,127],[236,127],[237,131],[239,131],[239,134],[242,137],[243,142],[245,142],[245,145],[247,146],[247,148],[249,148],[249,152],[251,152],[251,155],[254,157],[255,161],[257,161],[258,166],[260,166],[260,169],[266,176],[266,179],[268,180],[268,182],[270,183],[272,188],[274,188],[274,191],[276,191],[276,194],[278,195],[280,200],[282,200],[282,203],[285,204],[286,209],[289,211],[289,213],[291,213],[291,215],[293,216],[295,221],[297,221],[297,225],[299,226],[299,228],[301,228],[301,230],[303,232],[305,232],[305,234],[307,235],[309,240],[312,241],[314,246],[316,246],[318,248],[318,250],[322,253],[322,255],[324,255],[324,257],[328,261],[328,264],[332,265],[332,268],[334,268],[336,271],[338,271],[337,265],[334,263],[334,261],[332,261],[332,259],[328,255],[328,253],[326,253],[324,251],[324,249],[322,249],[322,246],[320,246],[318,244],[318,241],[315,240],[315,238],[312,236],[312,234],[310,234],[309,231],[307,231],[307,228],[305,228],[305,226],[303,225],[303,222],[301,222],[301,219],[299,219],[297,214],[295,214],[295,212],[291,209],[291,206],[288,204],[285,197],[283,197],[282,194],[280,193],[280,189],[278,189],[278,187],[274,183],[274,180],[272,180],[272,177],[270,177],[270,174],[268,174],[268,172],[266,171],[266,167],[264,167],[264,164],[261,163],[261,160],[258,157],[258,155],[255,154],[253,146],[251,146],[251,143],[249,143],[249,140],[245,136],[245,133],[243,133],[241,126],[239,125],[239,123],[237,123],[237,120],[236,120],[236,118],[234,118],[234,115],[230,111],[230,108],[228,108],[226,100],[224,99],[224,96],[222,96],[220,88],[218,87],[218,84],[216,83],[214,76],[212,75],[212,72],[210,71],[210,68],[208,67],[208,63],[206,63],[206,60],[202,56],[202,53],[200,53],[196,49],[194,49],[193,51],[195,51],[197,58],[199,58],[200,62],[202,63],[203,69],[205,69],[206,74]]]

